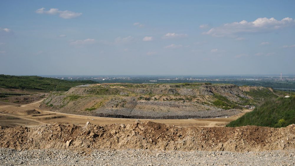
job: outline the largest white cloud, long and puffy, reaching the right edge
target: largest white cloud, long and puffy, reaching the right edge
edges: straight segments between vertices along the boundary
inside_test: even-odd
[[[274,18],[258,18],[253,22],[247,22],[245,20],[241,22],[233,22],[228,24],[223,24],[222,26],[212,28],[203,34],[209,34],[214,37],[235,37],[237,34],[245,33],[266,33],[273,32],[278,29],[285,27],[291,27],[295,25],[295,20],[286,17],[282,20],[276,20]]]

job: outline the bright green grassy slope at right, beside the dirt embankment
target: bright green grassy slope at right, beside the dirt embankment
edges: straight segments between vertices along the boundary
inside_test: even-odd
[[[280,119],[283,119],[280,121]],[[227,126],[285,127],[295,123],[295,97],[270,99]]]

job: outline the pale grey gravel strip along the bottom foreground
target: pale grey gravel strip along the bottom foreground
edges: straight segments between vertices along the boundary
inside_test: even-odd
[[[294,165],[294,150],[208,152],[160,150],[24,150],[0,148],[1,165]]]

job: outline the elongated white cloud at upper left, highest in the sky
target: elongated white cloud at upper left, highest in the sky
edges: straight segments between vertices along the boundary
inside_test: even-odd
[[[38,14],[52,14],[52,15],[59,14],[59,17],[61,17],[63,19],[72,19],[72,18],[79,17],[82,15],[82,13],[76,13],[76,12],[68,11],[68,10],[61,11],[56,8],[52,8],[52,9],[49,9],[46,11],[44,7],[36,10],[36,13],[38,13]]]

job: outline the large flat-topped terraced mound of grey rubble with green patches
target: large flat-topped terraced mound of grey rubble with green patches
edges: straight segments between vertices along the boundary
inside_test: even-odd
[[[231,116],[261,98],[268,88],[241,88],[227,84],[93,84],[52,93],[43,107],[53,111],[102,117],[187,119]],[[253,93],[253,94],[252,94]],[[264,94],[264,93],[263,93]]]

